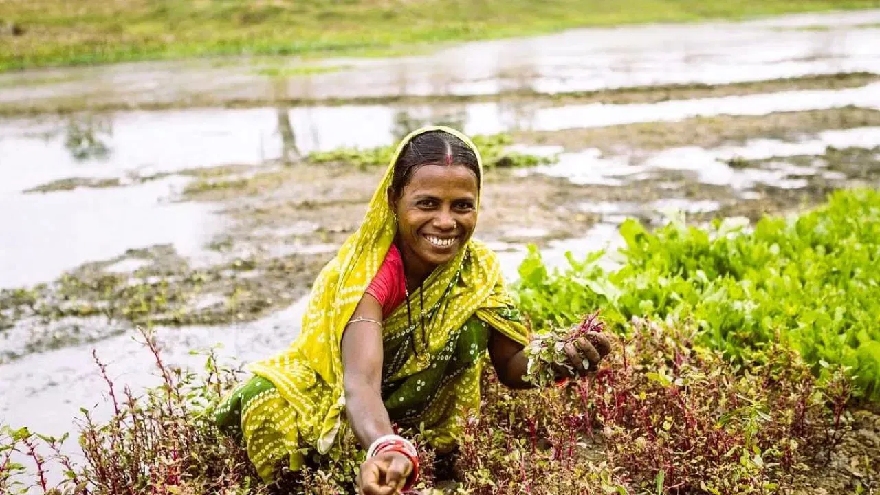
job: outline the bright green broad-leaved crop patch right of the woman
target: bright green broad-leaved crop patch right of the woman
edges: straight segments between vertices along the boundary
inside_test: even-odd
[[[539,327],[567,325],[603,308],[613,329],[633,316],[690,318],[701,344],[746,360],[776,338],[799,351],[814,373],[846,367],[855,393],[880,399],[880,193],[834,193],[792,218],[733,220],[708,228],[683,218],[649,232],[620,227],[620,268],[569,256],[549,273],[536,249],[520,266],[517,297]]]

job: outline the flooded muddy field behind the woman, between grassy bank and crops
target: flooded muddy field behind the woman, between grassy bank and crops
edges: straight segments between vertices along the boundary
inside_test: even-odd
[[[92,350],[119,381],[154,383],[138,326],[180,366],[216,343],[230,362],[289,344],[384,172],[312,153],[426,123],[502,134],[502,154],[535,157],[486,173],[476,235],[509,280],[527,244],[562,266],[619,246],[625,218],[755,221],[876,187],[880,30],[865,16],[880,19],[583,30],[282,83],[235,63],[0,76],[0,375],[25,384],[4,385],[0,422],[69,430],[99,403]],[[436,79],[437,57],[466,70]]]

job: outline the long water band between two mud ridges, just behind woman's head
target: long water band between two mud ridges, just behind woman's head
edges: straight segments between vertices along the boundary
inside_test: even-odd
[[[393,144],[429,123],[451,125],[474,135],[850,105],[880,107],[880,83],[842,90],[620,105],[554,106],[552,102],[504,99],[444,105],[279,105],[124,112],[107,115],[104,121],[75,121],[72,126],[68,121],[53,124],[16,119],[0,122],[0,188],[21,191],[75,176],[127,177],[196,167],[260,165],[278,159],[290,162],[312,151]],[[53,125],[55,133],[50,132]]]

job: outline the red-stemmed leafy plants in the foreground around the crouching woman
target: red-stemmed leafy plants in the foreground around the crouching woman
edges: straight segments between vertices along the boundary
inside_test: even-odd
[[[488,371],[480,410],[468,415],[446,492],[461,495],[578,493],[772,493],[804,462],[832,448],[846,421],[849,380],[817,381],[781,344],[756,351],[743,368],[695,344],[693,324],[636,320],[594,376],[567,388],[517,392]],[[78,432],[84,463],[59,443],[26,430],[0,430],[0,488],[54,495],[224,493],[319,495],[354,491],[363,449],[345,429],[332,455],[262,484],[244,447],[218,432],[211,410],[238,380],[208,355],[203,373],[165,365],[149,334],[162,385],[121,395],[97,360],[114,416],[88,413]],[[84,411],[85,412],[85,411]],[[417,432],[407,432],[416,440]],[[40,454],[48,447],[49,454]],[[12,454],[30,459],[16,463]],[[420,489],[436,484],[433,454],[422,450]],[[45,474],[62,469],[50,486]],[[33,486],[17,477],[33,475]],[[35,491],[33,491],[35,489]],[[436,492],[436,491],[426,491]]]

